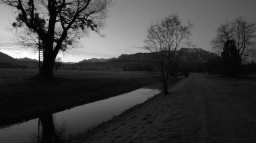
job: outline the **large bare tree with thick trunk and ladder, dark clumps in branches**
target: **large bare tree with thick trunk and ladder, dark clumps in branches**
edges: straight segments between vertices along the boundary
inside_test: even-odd
[[[18,16],[12,24],[23,34],[24,44],[42,44],[43,77],[53,77],[59,50],[73,48],[73,42],[89,30],[100,34],[111,0],[0,0],[14,7]]]

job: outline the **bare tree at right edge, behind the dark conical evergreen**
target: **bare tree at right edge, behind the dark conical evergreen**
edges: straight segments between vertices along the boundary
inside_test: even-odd
[[[228,40],[234,40],[236,48],[244,62],[251,57],[256,44],[256,23],[250,23],[243,17],[236,17],[232,22],[220,25],[217,36],[212,40],[214,48],[223,50]]]

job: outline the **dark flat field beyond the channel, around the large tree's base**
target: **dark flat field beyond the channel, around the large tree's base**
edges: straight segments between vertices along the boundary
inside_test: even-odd
[[[51,81],[38,70],[0,69],[0,126],[152,85],[149,73],[60,70]]]

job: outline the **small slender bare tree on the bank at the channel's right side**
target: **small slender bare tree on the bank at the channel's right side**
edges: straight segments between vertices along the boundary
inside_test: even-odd
[[[184,40],[191,36],[191,22],[183,25],[177,13],[151,23],[146,36],[146,48],[154,55],[158,69],[157,77],[162,82],[164,94],[168,94],[168,79],[173,60]]]

